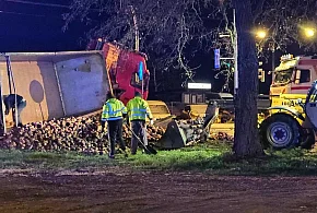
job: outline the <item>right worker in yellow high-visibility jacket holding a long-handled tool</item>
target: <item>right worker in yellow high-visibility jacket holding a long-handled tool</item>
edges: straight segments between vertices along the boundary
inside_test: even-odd
[[[148,138],[146,138],[146,125],[145,119],[146,117],[150,119],[150,125],[153,125],[153,117],[150,110],[150,107],[141,97],[139,92],[136,92],[134,98],[130,99],[127,104],[129,122],[131,122],[132,131],[137,134],[137,137],[148,145]],[[132,134],[131,139],[131,154],[137,154],[138,149],[138,139],[134,134]]]

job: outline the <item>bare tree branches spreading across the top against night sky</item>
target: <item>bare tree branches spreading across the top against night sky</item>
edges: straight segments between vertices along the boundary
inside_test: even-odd
[[[301,33],[306,23],[317,23],[315,0],[250,0],[250,4],[255,27],[268,29],[268,37],[257,40],[259,55],[273,48],[285,50],[292,43],[316,49],[316,40]],[[89,38],[105,37],[132,48],[136,32],[129,7],[138,20],[140,50],[155,59],[156,73],[181,70],[184,82],[192,81],[189,64],[196,52],[221,48],[224,56],[233,56],[231,0],[73,0],[64,28],[81,20],[92,26]],[[98,24],[92,25],[92,20]],[[219,33],[231,34],[232,40],[220,40]]]

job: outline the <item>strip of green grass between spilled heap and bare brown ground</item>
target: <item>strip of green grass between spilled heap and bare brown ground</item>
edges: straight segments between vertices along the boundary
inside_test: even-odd
[[[116,155],[86,156],[75,153],[39,153],[0,150],[0,168],[106,169],[110,166],[154,170],[199,170],[216,175],[317,175],[317,153],[305,150],[267,152],[266,157],[234,159],[226,143],[201,144],[175,151],[158,151],[157,155],[139,152],[125,158]]]

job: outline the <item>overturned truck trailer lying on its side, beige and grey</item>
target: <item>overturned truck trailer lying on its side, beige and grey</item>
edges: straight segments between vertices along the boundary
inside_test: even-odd
[[[12,52],[0,56],[2,130],[12,127],[3,95],[26,100],[24,123],[83,115],[102,108],[110,90],[102,51]]]

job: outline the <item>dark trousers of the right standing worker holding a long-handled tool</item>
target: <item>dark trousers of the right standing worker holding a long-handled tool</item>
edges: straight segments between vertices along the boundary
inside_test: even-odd
[[[144,120],[132,120],[132,131],[139,137],[139,139],[148,145],[148,137],[146,137],[146,125]],[[138,150],[139,140],[132,134],[131,140],[131,154],[136,154]]]

